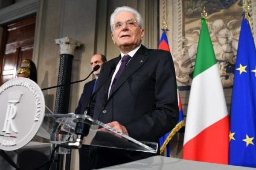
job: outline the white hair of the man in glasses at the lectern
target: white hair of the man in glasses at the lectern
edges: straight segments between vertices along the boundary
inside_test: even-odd
[[[116,15],[118,15],[121,12],[129,12],[131,14],[134,14],[134,17],[136,17],[140,28],[143,28],[143,19],[141,17],[141,14],[135,10],[134,8],[131,8],[129,6],[121,6],[115,9],[115,11],[113,11],[113,13],[111,14],[110,17],[110,26],[111,26],[111,31],[114,31],[114,18],[116,17]]]

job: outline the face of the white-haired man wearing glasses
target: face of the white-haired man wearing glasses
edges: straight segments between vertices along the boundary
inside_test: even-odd
[[[136,17],[129,12],[116,15],[113,27],[112,40],[121,51],[122,48],[136,48],[143,39],[144,29],[140,28]]]

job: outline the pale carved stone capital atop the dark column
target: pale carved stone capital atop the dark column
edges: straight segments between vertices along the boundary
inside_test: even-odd
[[[73,40],[71,37],[55,39],[55,43],[60,46],[60,54],[71,55],[74,55],[75,48],[82,44],[82,42]]]

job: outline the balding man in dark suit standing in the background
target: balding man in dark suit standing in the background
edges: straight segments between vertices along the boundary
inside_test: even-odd
[[[75,114],[84,114],[85,108],[89,103],[90,96],[93,94],[93,92],[96,89],[96,80],[98,79],[101,66],[106,61],[107,61],[106,57],[102,54],[95,54],[93,55],[93,57],[91,57],[90,59],[91,68],[93,69],[96,65],[99,65],[100,68],[97,71],[93,72],[93,74],[96,76],[96,79],[93,79],[92,81],[87,82],[84,85],[84,90],[79,99],[79,103],[76,108]]]

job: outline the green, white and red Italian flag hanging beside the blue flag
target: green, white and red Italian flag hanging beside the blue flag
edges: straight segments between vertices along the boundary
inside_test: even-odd
[[[229,117],[205,18],[195,58],[183,159],[228,164]]]

